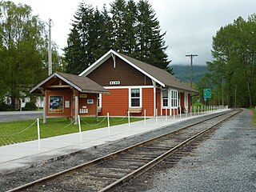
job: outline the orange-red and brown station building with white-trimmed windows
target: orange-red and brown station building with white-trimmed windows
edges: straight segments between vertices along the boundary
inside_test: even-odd
[[[103,86],[110,94],[100,94],[100,115],[146,116],[190,112],[190,97],[198,94],[186,83],[166,70],[130,58],[114,50],[94,62],[80,77],[87,77]]]

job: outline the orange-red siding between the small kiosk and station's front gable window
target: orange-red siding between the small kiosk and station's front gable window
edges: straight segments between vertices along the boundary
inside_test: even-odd
[[[102,94],[102,113],[110,116],[125,116],[129,108],[129,90],[112,89],[110,94]]]

